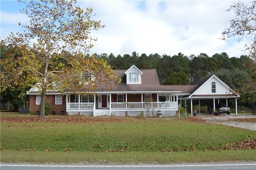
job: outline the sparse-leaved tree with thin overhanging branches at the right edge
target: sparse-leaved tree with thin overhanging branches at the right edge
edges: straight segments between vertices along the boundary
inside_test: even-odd
[[[231,37],[238,38],[238,41],[246,42],[245,50],[252,58],[251,64],[246,68],[246,72],[250,75],[251,82],[245,84],[242,91],[250,98],[252,107],[255,107],[256,96],[256,1],[238,2],[228,9],[234,10],[236,17],[230,20],[230,28],[226,28],[222,32],[222,39],[228,40]]]

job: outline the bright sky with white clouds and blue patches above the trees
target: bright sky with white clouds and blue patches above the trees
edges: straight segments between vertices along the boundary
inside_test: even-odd
[[[221,40],[221,33],[230,26],[234,12],[226,10],[235,1],[173,1],[173,0],[78,0],[84,9],[92,7],[94,20],[106,27],[93,32],[98,38],[90,53],[132,55],[143,53],[186,56],[226,52],[229,57],[244,53],[243,42],[235,38]],[[16,0],[0,0],[1,39],[10,32],[21,32],[18,23],[29,23],[20,13],[24,8]]]

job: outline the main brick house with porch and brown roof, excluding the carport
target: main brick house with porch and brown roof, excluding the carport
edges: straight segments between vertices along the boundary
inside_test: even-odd
[[[113,90],[98,86],[96,92],[88,96],[58,92],[48,92],[46,101],[52,112],[66,115],[108,115],[108,116],[175,116],[178,112],[178,93],[168,86],[160,85],[155,69],[140,70],[131,66],[128,70],[114,70],[122,82]],[[32,88],[30,112],[37,112],[40,93]]]

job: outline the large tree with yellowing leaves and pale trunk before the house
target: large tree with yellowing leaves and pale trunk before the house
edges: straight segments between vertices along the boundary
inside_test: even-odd
[[[30,24],[18,23],[24,32],[11,34],[2,43],[16,47],[1,61],[1,90],[7,86],[34,85],[41,92],[40,117],[44,117],[47,91],[92,92],[96,80],[107,88],[120,82],[104,60],[86,56],[96,41],[92,30],[103,28],[92,20],[92,8],[76,6],[76,0],[21,1],[21,12]],[[93,78],[89,78],[93,76]],[[112,83],[107,83],[112,80]],[[36,84],[34,84],[36,82]]]

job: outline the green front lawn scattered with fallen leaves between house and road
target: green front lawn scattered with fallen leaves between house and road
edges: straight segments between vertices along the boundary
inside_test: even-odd
[[[14,115],[1,113],[1,117]],[[16,116],[31,117],[21,114]],[[229,150],[230,147],[226,146],[226,143],[236,144],[244,139],[255,140],[256,131],[209,123],[129,118],[123,122],[1,122],[0,127],[1,162],[170,163],[256,160],[256,150]],[[168,152],[170,150],[173,152]]]

